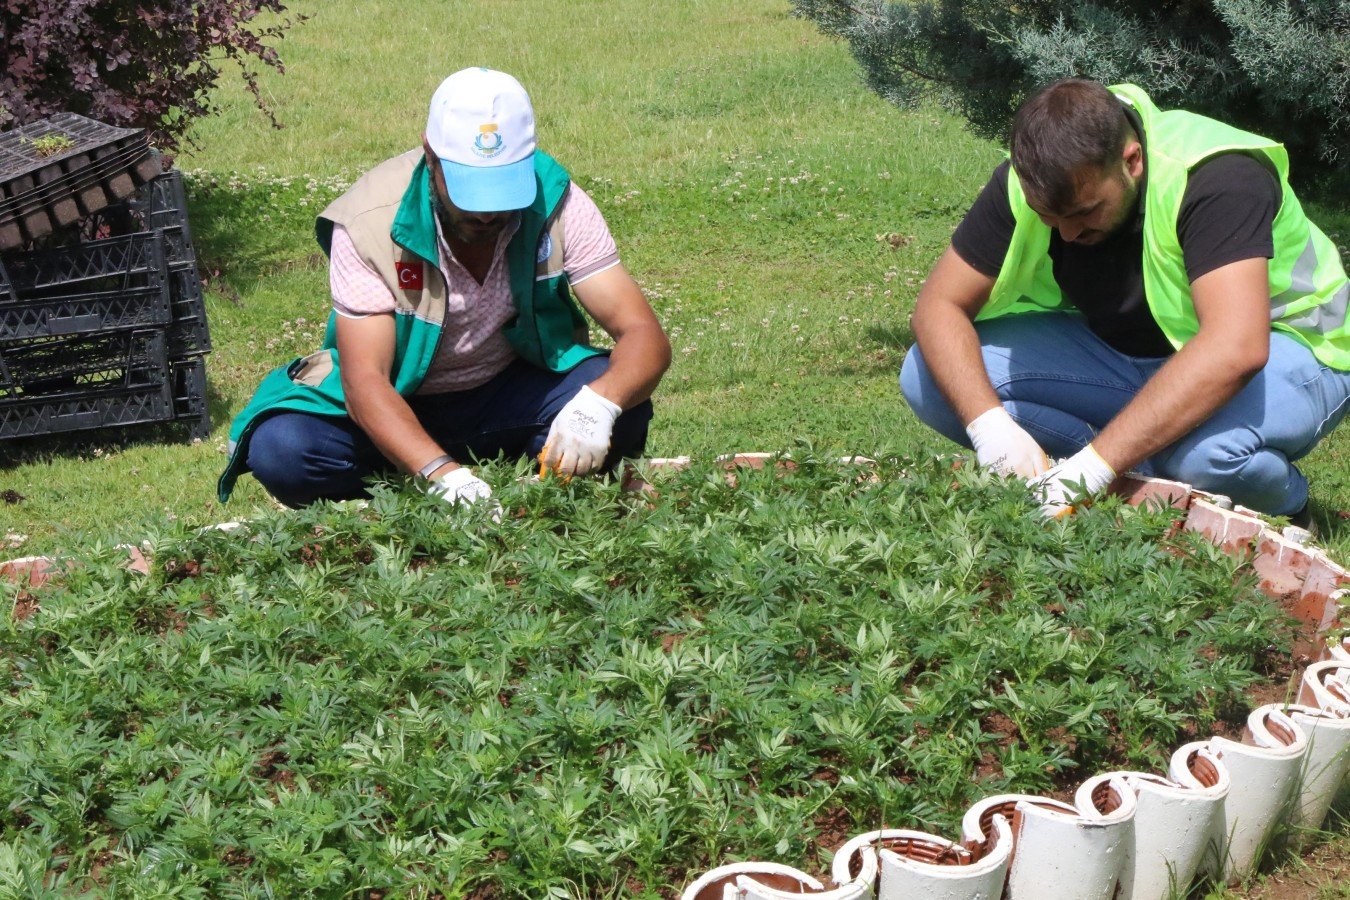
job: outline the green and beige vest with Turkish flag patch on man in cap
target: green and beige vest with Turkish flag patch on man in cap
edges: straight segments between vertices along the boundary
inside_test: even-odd
[[[572,301],[563,271],[560,204],[567,171],[543,151],[535,152],[537,192],[521,212],[506,247],[516,316],[502,332],[526,362],[566,372],[603,351],[586,344],[586,318]],[[446,320],[446,281],[440,274],[431,174],[421,150],[412,150],[366,173],[315,223],[327,254],[333,225],[351,236],[356,254],[394,294],[394,363],[390,378],[401,395],[417,391],[440,344]],[[413,275],[414,274],[414,275]],[[409,286],[412,285],[412,286]],[[263,378],[230,426],[230,463],[217,494],[224,502],[246,470],[248,439],[269,414],[300,412],[346,416],[336,344],[336,314],[328,317],[323,347]]]

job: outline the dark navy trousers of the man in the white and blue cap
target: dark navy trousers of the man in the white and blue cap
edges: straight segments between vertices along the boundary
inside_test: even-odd
[[[516,360],[486,385],[409,397],[408,405],[456,461],[535,457],[554,417],[608,368],[608,356],[587,359],[563,375]],[[618,417],[603,471],[643,453],[651,420],[651,401]],[[366,497],[367,478],[397,471],[350,418],[306,413],[278,413],[258,425],[248,441],[248,468],[286,506]]]

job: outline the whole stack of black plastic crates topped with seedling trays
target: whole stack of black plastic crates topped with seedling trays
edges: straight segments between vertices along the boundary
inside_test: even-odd
[[[182,177],[144,134],[73,115],[0,134],[0,439],[205,437],[209,351]]]

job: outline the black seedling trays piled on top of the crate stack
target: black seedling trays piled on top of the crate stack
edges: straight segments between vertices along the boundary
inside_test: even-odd
[[[42,139],[68,148],[43,157]],[[144,131],[76,113],[0,134],[0,250],[20,247],[130,196],[161,163]]]

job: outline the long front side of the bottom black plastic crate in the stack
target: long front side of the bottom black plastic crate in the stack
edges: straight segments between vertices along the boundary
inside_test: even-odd
[[[86,428],[162,422],[173,416],[167,379],[158,385],[72,390],[16,401],[0,401],[0,440],[35,437]]]

